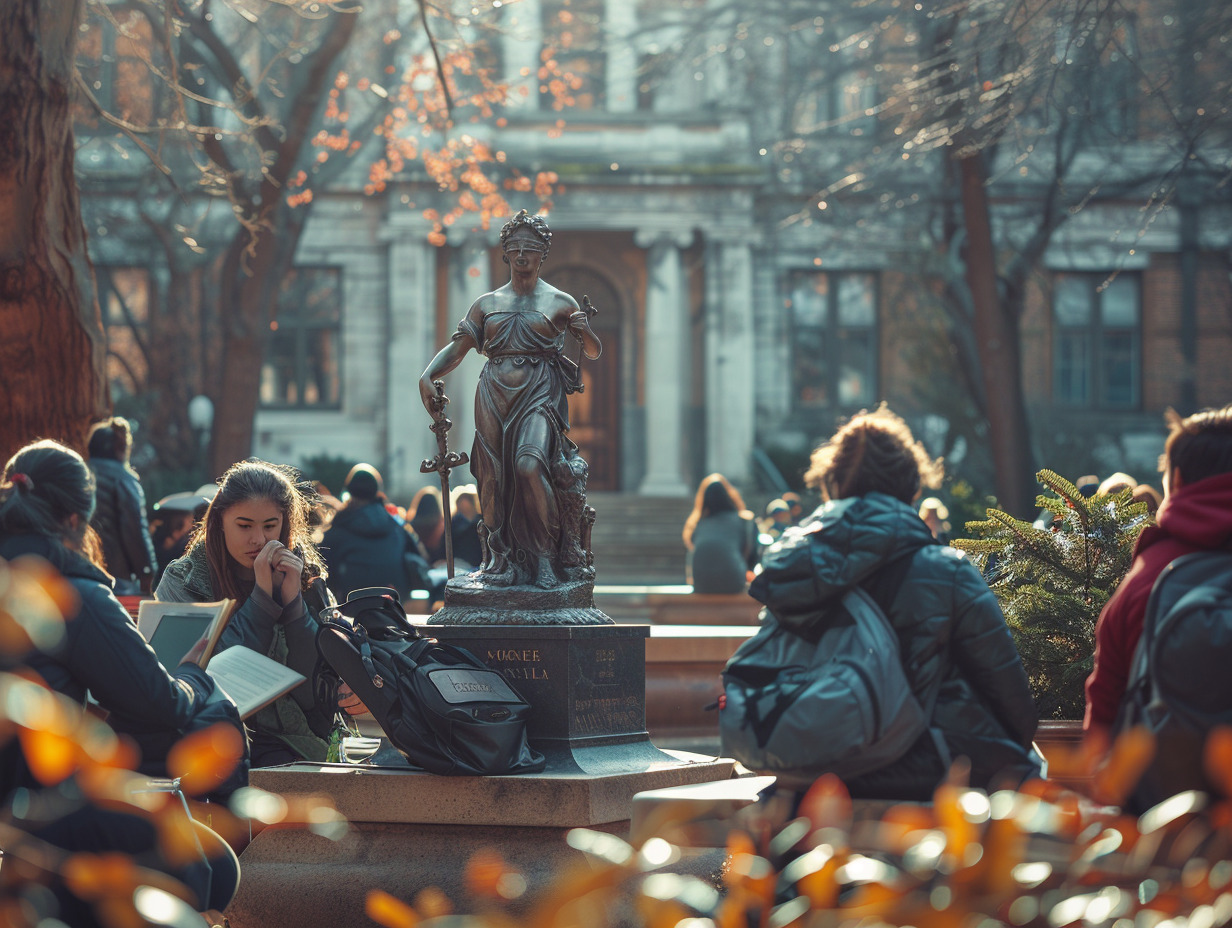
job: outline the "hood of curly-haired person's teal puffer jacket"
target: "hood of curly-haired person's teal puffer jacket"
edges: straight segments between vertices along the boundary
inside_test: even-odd
[[[780,619],[813,613],[897,555],[936,543],[915,510],[893,497],[834,499],[765,550],[749,594]]]

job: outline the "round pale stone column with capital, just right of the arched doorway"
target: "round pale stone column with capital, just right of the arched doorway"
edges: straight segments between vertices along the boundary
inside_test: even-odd
[[[647,250],[646,477],[638,493],[687,497],[683,476],[684,408],[689,396],[689,288],[680,249],[692,233],[639,232]]]

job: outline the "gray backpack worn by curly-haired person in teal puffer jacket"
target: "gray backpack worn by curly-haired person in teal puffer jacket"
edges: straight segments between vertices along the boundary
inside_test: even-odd
[[[912,693],[898,636],[873,598],[851,589],[806,635],[763,610],[761,630],[723,668],[723,754],[786,786],[824,773],[859,776],[906,754],[928,730],[931,707]]]

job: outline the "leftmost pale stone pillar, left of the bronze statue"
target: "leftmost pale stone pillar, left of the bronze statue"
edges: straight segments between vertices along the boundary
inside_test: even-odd
[[[436,248],[428,230],[387,227],[389,332],[386,344],[386,492],[410,497],[429,479],[419,463],[436,454],[431,419],[419,398],[419,375],[440,349],[436,333]],[[444,344],[444,343],[442,343]]]

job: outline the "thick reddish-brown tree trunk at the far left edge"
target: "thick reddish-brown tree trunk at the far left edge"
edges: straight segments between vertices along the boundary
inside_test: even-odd
[[[81,2],[0,4],[0,462],[38,438],[84,450],[106,345],[73,176]]]

